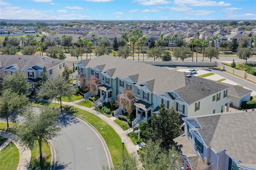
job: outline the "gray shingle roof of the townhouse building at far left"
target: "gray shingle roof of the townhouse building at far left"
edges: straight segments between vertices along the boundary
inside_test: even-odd
[[[0,55],[0,65],[2,69],[10,65],[13,65],[19,70],[26,70],[34,65],[38,65],[42,68],[45,66],[47,69],[50,69],[62,62],[64,62],[64,60],[41,57],[38,55]]]

